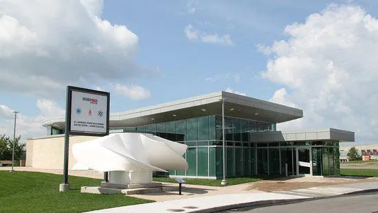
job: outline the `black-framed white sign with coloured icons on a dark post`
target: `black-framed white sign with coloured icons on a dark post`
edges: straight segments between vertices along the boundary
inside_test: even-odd
[[[108,92],[67,86],[63,183],[59,186],[60,192],[69,190],[69,135],[109,135],[109,102]]]

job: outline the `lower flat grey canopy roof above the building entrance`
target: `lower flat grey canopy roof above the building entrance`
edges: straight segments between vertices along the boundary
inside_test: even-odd
[[[355,133],[336,128],[309,131],[271,131],[250,133],[251,142],[296,142],[329,140],[336,142],[354,142]]]

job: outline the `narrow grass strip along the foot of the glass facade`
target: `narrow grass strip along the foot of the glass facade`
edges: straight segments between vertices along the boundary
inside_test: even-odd
[[[277,176],[256,176],[256,177],[230,177],[227,178],[228,185],[236,185],[236,184],[241,184],[241,183],[251,183],[251,182],[256,182],[256,181],[261,181],[261,180],[266,180],[266,179],[274,179],[277,178]],[[186,183],[188,184],[193,184],[193,185],[203,185],[203,186],[221,186],[221,179],[188,179],[184,178]],[[169,177],[154,177],[153,181],[158,181],[158,182],[166,182],[166,183],[177,183],[177,181],[173,178]]]

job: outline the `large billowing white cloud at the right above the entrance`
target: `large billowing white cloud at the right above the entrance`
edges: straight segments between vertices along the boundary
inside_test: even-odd
[[[304,110],[301,128],[343,128],[375,139],[378,124],[378,20],[354,5],[329,5],[304,23],[285,28],[287,40],[270,54],[263,78],[290,88],[273,100]]]

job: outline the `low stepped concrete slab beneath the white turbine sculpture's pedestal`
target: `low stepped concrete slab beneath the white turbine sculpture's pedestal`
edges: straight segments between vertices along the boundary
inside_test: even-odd
[[[177,186],[162,186],[162,183],[117,184],[101,183],[101,186],[82,186],[80,192],[91,194],[149,194],[157,192],[178,191]]]

